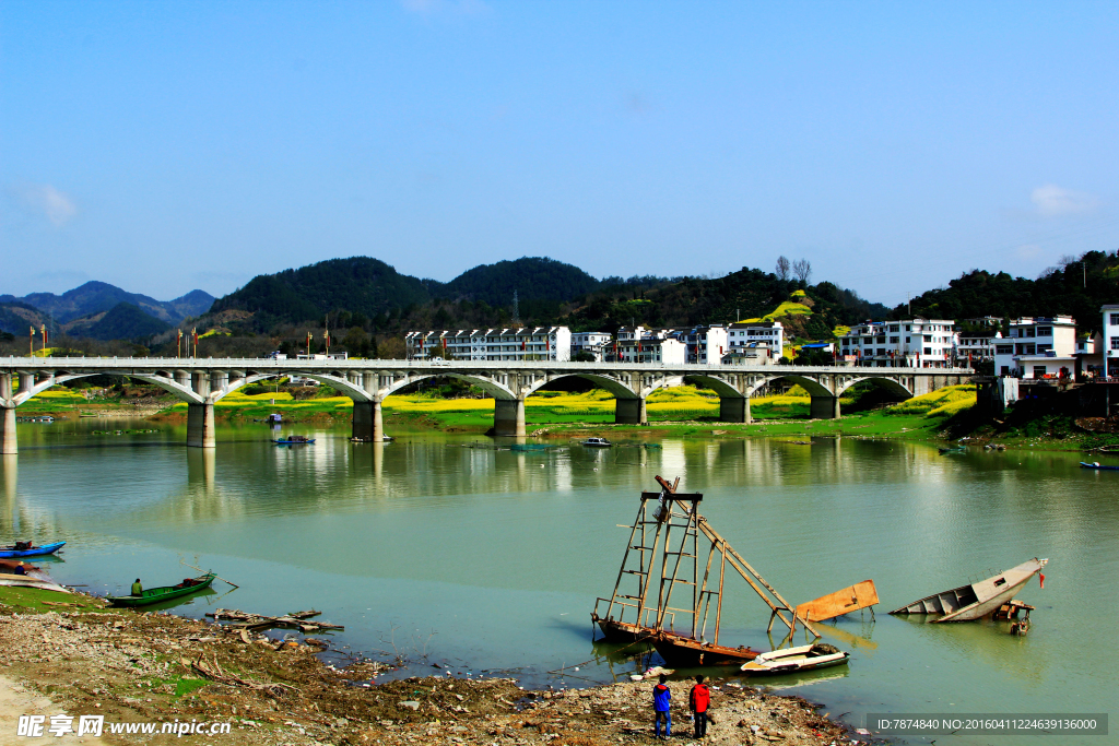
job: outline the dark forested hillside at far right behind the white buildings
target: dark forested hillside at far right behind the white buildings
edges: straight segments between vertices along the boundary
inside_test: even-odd
[[[1071,314],[1078,331],[1099,331],[1100,306],[1119,303],[1119,255],[1088,252],[1066,257],[1037,280],[972,270],[912,301],[912,314],[929,319]],[[891,312],[908,318],[903,303]]]

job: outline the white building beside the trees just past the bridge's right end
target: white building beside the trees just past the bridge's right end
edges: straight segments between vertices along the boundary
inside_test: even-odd
[[[1023,317],[1010,321],[1010,332],[995,342],[995,375],[1016,378],[1056,378],[1075,370],[1076,321],[1072,317]]]

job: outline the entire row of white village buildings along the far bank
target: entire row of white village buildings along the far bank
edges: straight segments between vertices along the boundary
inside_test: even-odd
[[[1119,304],[1102,306],[1102,332],[1076,333],[1072,317],[968,319],[960,333],[946,319],[867,321],[850,328],[836,342],[806,344],[831,353],[837,365],[866,367],[971,367],[994,360],[995,375],[1019,378],[1059,377],[1081,371],[1089,376],[1119,376]],[[744,321],[688,329],[622,327],[618,334],[572,332],[567,327],[413,331],[405,336],[412,359],[571,360],[589,353],[595,361],[660,362],[665,365],[773,365],[783,355],[780,321]],[[585,357],[585,356],[584,356]]]

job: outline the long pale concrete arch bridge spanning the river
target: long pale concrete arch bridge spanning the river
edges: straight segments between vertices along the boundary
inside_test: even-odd
[[[645,424],[646,398],[658,388],[679,386],[685,377],[715,390],[725,422],[749,423],[750,397],[770,381],[802,386],[811,416],[839,416],[845,390],[872,380],[910,398],[966,383],[966,368],[857,368],[810,366],[704,366],[555,361],[273,360],[176,358],[7,358],[0,359],[0,453],[16,453],[16,408],[51,386],[86,376],[128,376],[159,386],[188,405],[187,445],[211,448],[214,404],[260,380],[300,376],[327,384],[354,399],[354,435],[384,435],[380,407],[386,396],[417,381],[450,376],[493,397],[498,435],[525,434],[525,399],[545,385],[575,376],[617,397],[615,422]]]

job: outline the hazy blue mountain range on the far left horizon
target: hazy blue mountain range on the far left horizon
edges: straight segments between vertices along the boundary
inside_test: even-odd
[[[0,295],[0,304],[22,303],[31,305],[50,317],[58,323],[66,323],[79,317],[109,311],[120,303],[131,303],[149,315],[173,324],[188,317],[197,317],[209,310],[214,296],[200,290],[194,290],[172,301],[157,301],[148,295],[130,293],[105,282],[87,282],[79,287],[68,290],[62,295],[54,293],[31,293],[23,298]]]

